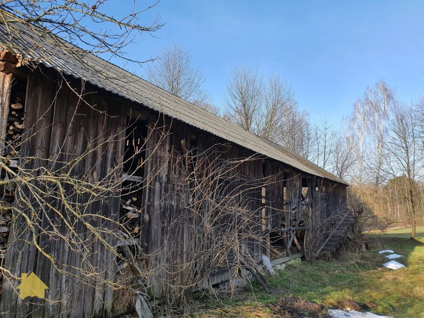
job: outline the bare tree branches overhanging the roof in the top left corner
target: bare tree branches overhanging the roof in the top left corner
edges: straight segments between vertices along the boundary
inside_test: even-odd
[[[87,52],[111,57],[127,62],[142,63],[142,59],[130,59],[125,48],[141,33],[153,33],[162,27],[159,17],[145,23],[142,13],[156,5],[153,2],[145,8],[138,8],[134,1],[133,8],[123,16],[109,12],[107,0],[87,1],[71,0],[3,0],[0,1],[0,23],[7,26],[9,37],[1,46],[12,49],[11,38],[25,36],[16,30],[17,24],[25,24],[31,32],[42,36],[60,51],[76,54],[79,57]],[[131,8],[131,6],[128,6]],[[97,28],[101,25],[101,28]],[[49,33],[57,36],[46,36]],[[24,38],[23,38],[24,39]],[[66,40],[62,41],[61,39]],[[14,42],[17,42],[16,40]],[[26,43],[25,39],[22,43]],[[71,44],[71,45],[70,45]],[[25,47],[28,54],[37,51],[43,54],[40,59],[50,60],[55,52],[42,53],[35,47]],[[82,47],[84,50],[75,48]]]

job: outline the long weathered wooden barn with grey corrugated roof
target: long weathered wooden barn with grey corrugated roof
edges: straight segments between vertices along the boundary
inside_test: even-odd
[[[200,151],[215,157],[219,153],[220,162],[233,163],[229,170],[241,188],[249,185],[244,190],[246,207],[253,214],[249,227],[262,241],[248,242],[247,248],[257,263],[263,254],[272,258],[273,244],[285,255],[302,252],[308,215],[325,219],[348,213],[348,184],[293,151],[92,54],[58,49],[50,40],[52,35],[35,34],[23,24],[17,27],[19,36],[9,38],[0,25],[0,169],[6,180],[1,183],[0,312],[4,317],[111,316],[115,273],[125,261],[117,261],[116,253],[106,247],[119,249],[127,258],[135,257],[129,255],[134,246],[153,255],[150,261],[159,265],[153,266],[147,289],[151,297],[166,296],[171,284],[163,282],[177,282],[179,275],[166,266],[183,263],[187,250],[196,248],[187,238],[196,226],[202,226],[196,222],[175,226],[177,217],[186,213],[180,203],[186,198],[167,196],[179,179],[178,172],[188,169],[189,163],[178,162],[188,151],[195,152],[192,158]],[[25,66],[31,61],[35,67]],[[108,142],[88,151],[99,137]],[[74,161],[70,168],[67,163],[82,154],[83,160]],[[28,190],[34,189],[32,180],[22,174],[34,172],[36,179],[37,174],[49,171],[60,172],[56,178],[74,174],[97,184],[124,180],[135,190],[102,200],[94,200],[89,190],[70,190],[75,187],[66,181],[57,190],[62,186],[59,182],[54,193],[43,190],[53,181],[41,182],[37,193]],[[15,185],[7,181],[13,178]],[[61,214],[74,210],[64,207],[65,201],[56,193],[66,195],[66,202],[83,205],[84,215],[97,216],[87,227],[105,230],[92,237],[84,226],[69,226],[84,215]],[[93,203],[87,205],[91,199]],[[133,236],[113,235],[123,218]],[[61,233],[61,238],[52,239],[53,232]],[[85,245],[91,242],[85,252],[74,248],[79,244],[77,237],[84,237]],[[327,238],[326,246],[330,242]],[[95,268],[102,283],[86,282],[81,274],[86,266],[86,276]],[[45,299],[20,297],[21,278],[28,273],[35,273],[47,286]],[[214,282],[209,277],[199,285]]]

